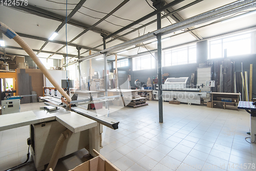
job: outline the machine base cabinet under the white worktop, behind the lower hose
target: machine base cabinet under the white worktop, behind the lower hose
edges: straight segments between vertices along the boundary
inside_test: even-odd
[[[45,164],[50,162],[59,136],[65,130],[67,127],[56,120],[30,125],[31,152],[38,171],[44,170]],[[89,130],[73,133],[69,136],[63,144],[59,157],[65,157],[84,147],[89,147]]]

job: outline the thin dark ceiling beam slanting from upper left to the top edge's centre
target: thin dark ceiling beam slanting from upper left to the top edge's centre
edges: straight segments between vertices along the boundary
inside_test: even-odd
[[[116,12],[118,9],[120,9],[122,6],[124,6],[127,2],[129,2],[130,0],[124,0],[121,4],[119,4],[114,10],[112,10],[110,13],[108,13],[107,15],[105,15],[103,18],[101,18],[100,20],[98,20],[98,22],[96,22],[94,25],[92,25],[91,27],[89,27],[88,29],[82,31],[80,34],[78,34],[75,38],[73,38],[72,40],[70,40],[68,42],[67,45],[71,44],[71,42],[75,41],[77,38],[79,38],[81,35],[83,35],[84,33],[88,32],[89,30],[93,29],[94,27],[96,27],[98,24],[100,24],[101,22],[103,22],[103,20],[105,20],[106,18],[108,18],[109,16],[111,16],[114,12]],[[177,1],[177,0],[176,0]],[[181,1],[181,0],[180,0]],[[184,1],[184,0],[183,0]],[[54,52],[52,55],[50,55],[47,59],[49,59],[50,57],[52,57],[54,54],[56,54],[57,52],[59,52],[61,49],[65,48],[67,45],[62,46],[61,48],[59,48],[56,52]]]

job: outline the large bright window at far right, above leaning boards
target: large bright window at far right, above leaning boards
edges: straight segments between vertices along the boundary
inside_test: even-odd
[[[239,33],[208,40],[208,59],[246,55],[253,52],[252,38],[254,33]]]

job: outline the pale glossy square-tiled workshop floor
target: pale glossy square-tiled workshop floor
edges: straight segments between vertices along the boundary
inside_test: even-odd
[[[164,123],[158,122],[158,101],[142,108],[111,106],[119,129],[106,129],[100,153],[121,170],[253,170],[256,144],[245,141],[250,116],[244,110],[164,102]],[[119,109],[119,110],[118,110]],[[104,112],[104,109],[97,112]],[[0,132],[0,170],[26,160],[28,126]],[[24,142],[25,141],[25,142]],[[82,150],[59,160],[55,170],[86,161]],[[249,168],[249,169],[248,169]],[[35,170],[33,163],[17,170]],[[256,170],[256,169],[254,169]]]

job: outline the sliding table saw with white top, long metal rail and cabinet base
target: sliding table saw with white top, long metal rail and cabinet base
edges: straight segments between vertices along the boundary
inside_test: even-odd
[[[80,104],[115,97],[73,100],[69,106],[63,104],[58,97],[42,97],[48,102],[39,110],[0,116],[0,131],[30,125],[31,152],[38,171],[44,170],[50,162],[58,138],[67,129],[72,134],[64,141],[59,158],[82,148],[95,156],[93,149],[99,152],[102,147],[103,125],[116,130],[119,121],[82,109]]]

